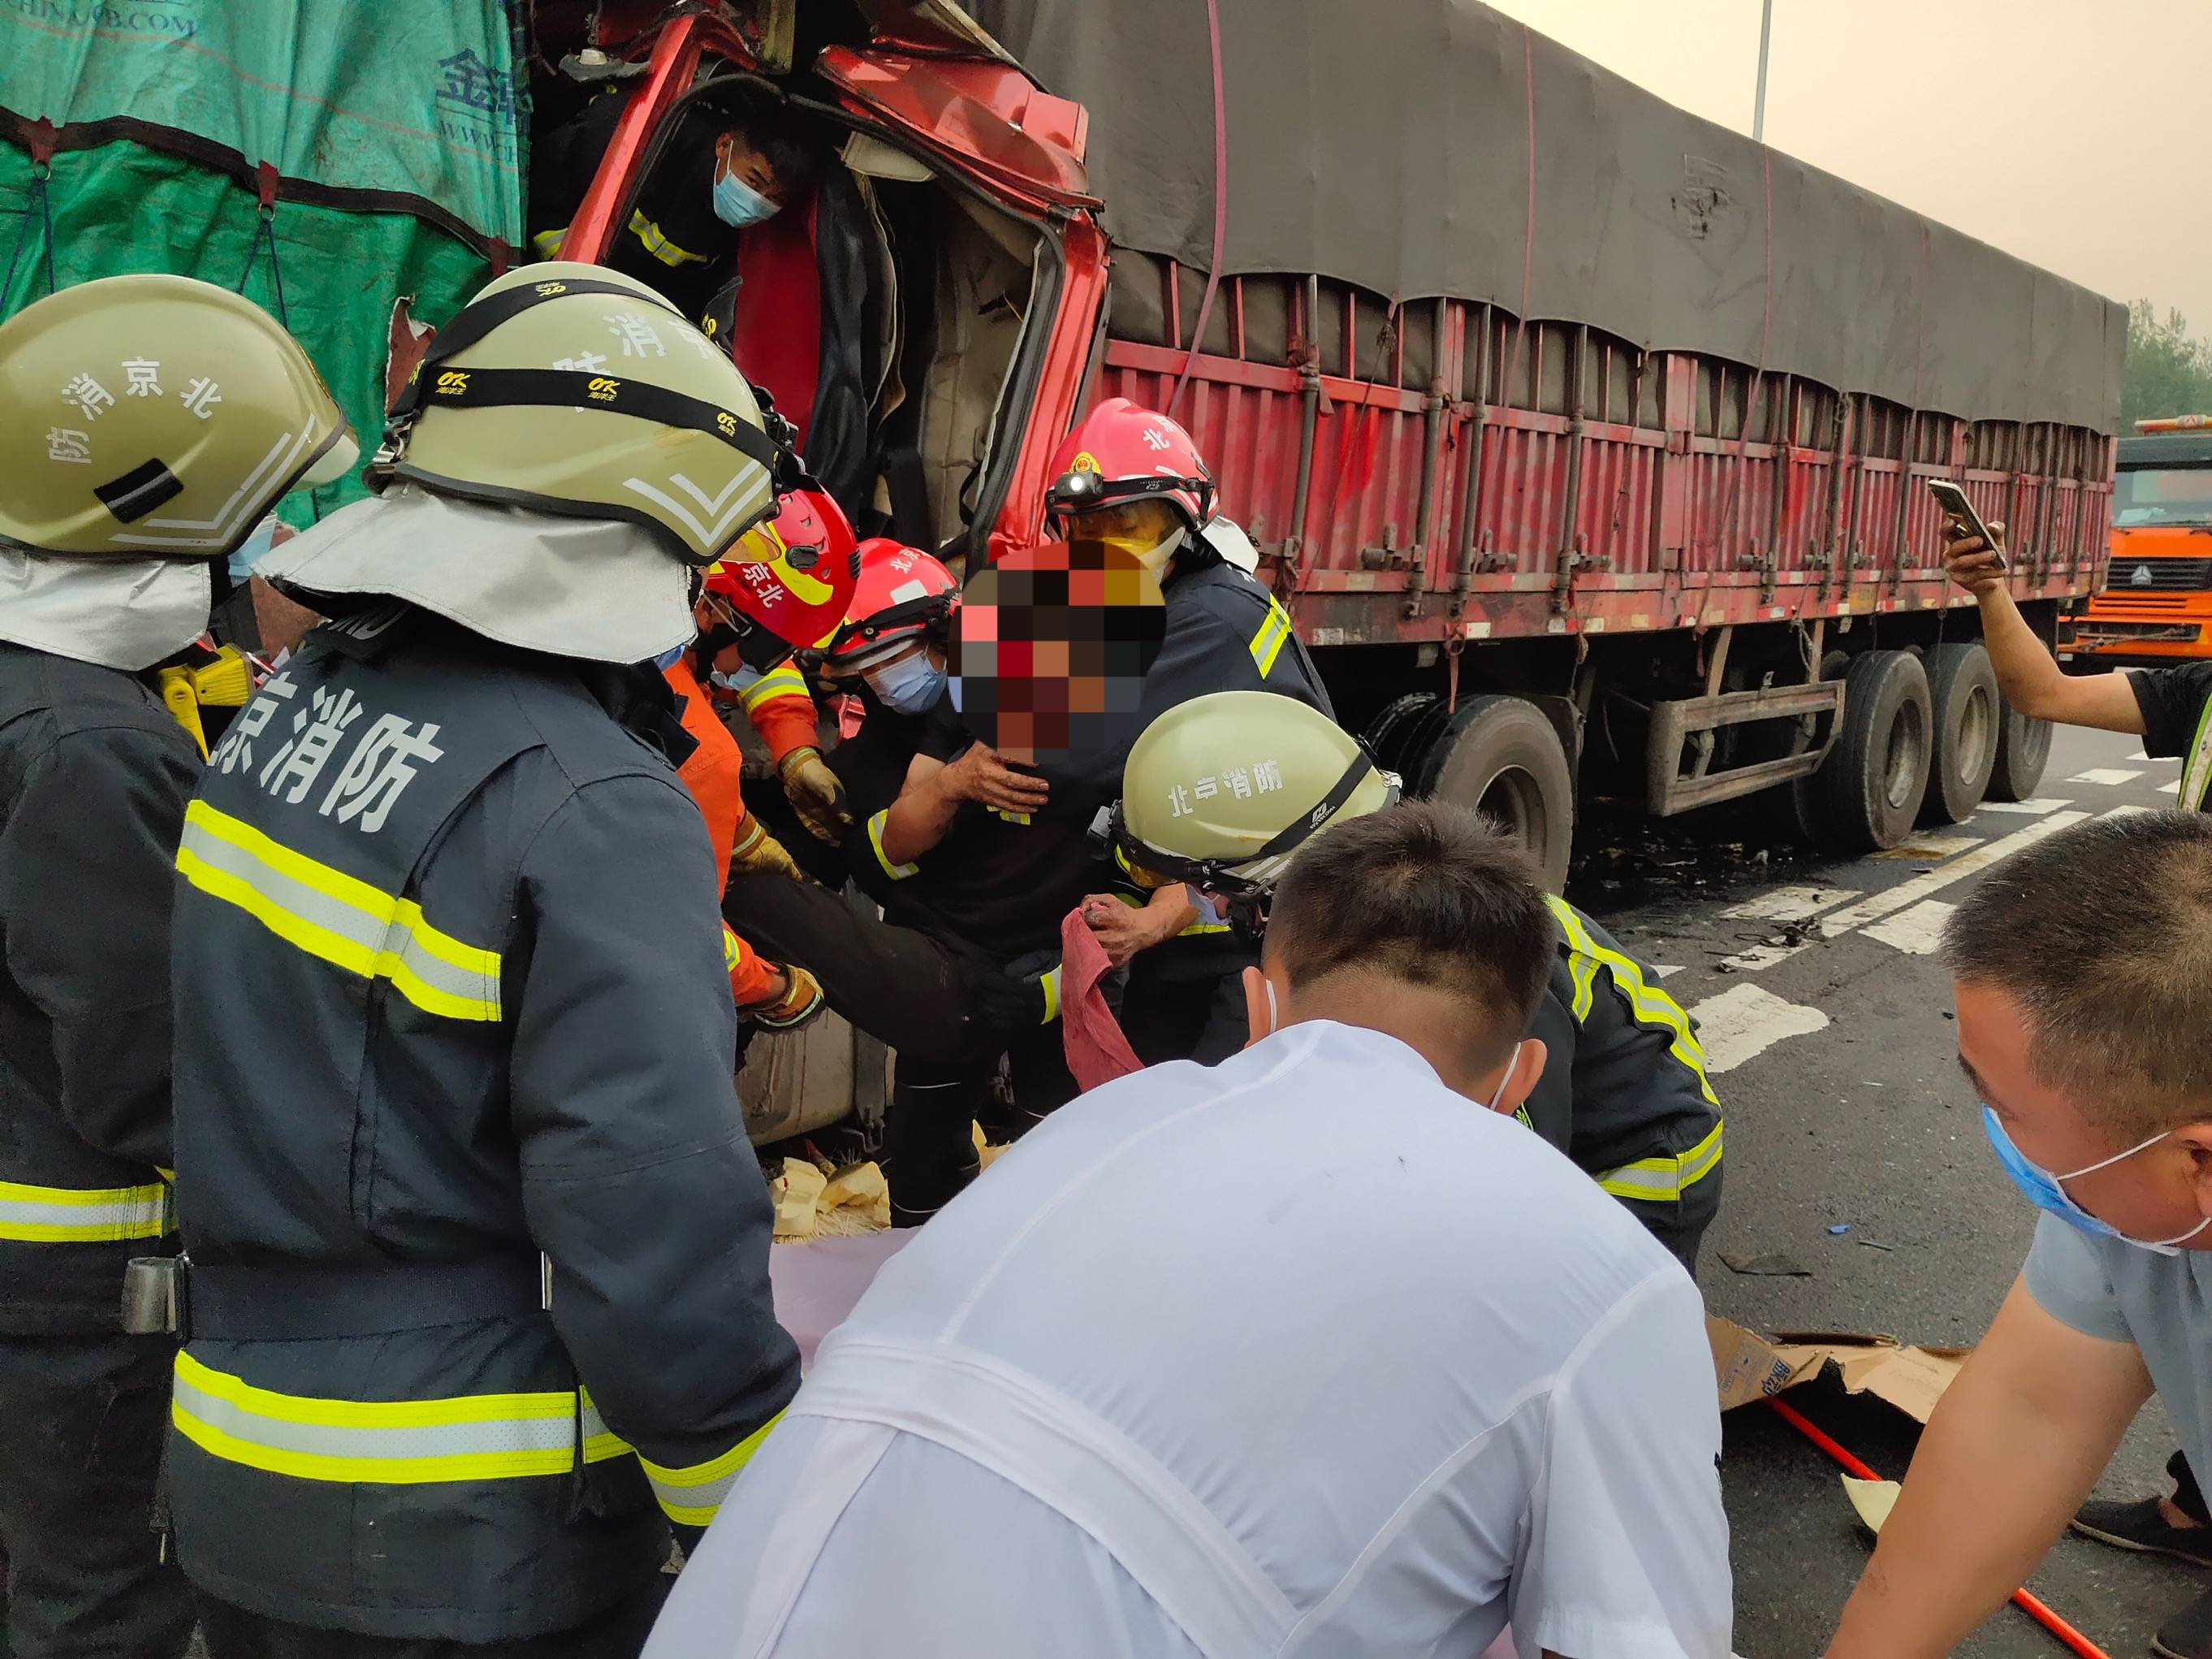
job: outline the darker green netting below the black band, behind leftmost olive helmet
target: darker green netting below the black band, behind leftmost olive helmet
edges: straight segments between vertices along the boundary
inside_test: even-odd
[[[263,230],[252,190],[137,144],[58,153],[44,208],[38,197],[31,157],[0,144],[0,259],[7,261],[0,316],[49,292],[51,215],[51,276],[60,288],[124,272],[175,272],[241,290],[285,321],[345,409],[363,458],[383,431],[392,303],[414,294],[411,314],[442,323],[491,276],[473,248],[407,212],[279,201]],[[361,493],[358,478],[345,478],[294,491],[281,513],[307,524]]]

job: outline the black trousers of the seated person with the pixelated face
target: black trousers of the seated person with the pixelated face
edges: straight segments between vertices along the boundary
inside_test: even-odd
[[[832,1009],[896,1051],[883,1172],[898,1225],[927,1221],[975,1179],[969,1124],[991,1117],[1002,1057],[1022,1121],[1075,1097],[1060,1024],[1042,1024],[1042,993],[1004,962],[790,876],[732,878],[723,914],[770,958],[805,967]]]

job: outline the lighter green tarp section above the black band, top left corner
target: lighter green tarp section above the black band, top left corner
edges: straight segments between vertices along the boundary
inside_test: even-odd
[[[414,199],[522,241],[515,29],[502,0],[0,0],[0,111],[161,128],[325,190]],[[212,155],[208,159],[215,159]]]

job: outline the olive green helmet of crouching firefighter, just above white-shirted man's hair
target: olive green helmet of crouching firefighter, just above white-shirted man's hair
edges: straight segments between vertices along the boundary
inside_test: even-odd
[[[1110,836],[1139,880],[1256,898],[1310,836],[1396,799],[1398,779],[1318,708],[1279,692],[1212,692],[1137,737]]]

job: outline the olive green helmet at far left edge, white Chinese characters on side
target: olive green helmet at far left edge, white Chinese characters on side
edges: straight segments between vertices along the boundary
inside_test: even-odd
[[[208,560],[361,447],[299,341],[190,276],[102,276],[0,325],[0,540]]]

